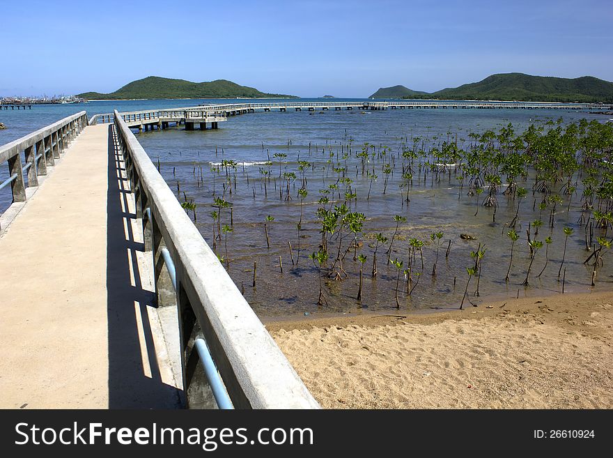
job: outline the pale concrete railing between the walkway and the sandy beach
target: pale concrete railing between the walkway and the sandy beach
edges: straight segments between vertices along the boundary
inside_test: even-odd
[[[145,249],[153,253],[157,305],[176,304],[178,310],[187,405],[201,406],[204,398],[204,372],[194,348],[203,338],[235,408],[319,408],[123,117],[114,114]],[[164,268],[164,248],[174,264],[176,289]]]

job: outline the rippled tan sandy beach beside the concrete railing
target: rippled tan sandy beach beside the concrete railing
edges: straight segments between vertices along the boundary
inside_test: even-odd
[[[326,409],[610,409],[613,292],[266,323]]]

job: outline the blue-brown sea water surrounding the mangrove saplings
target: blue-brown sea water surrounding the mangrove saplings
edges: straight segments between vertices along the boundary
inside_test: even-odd
[[[313,100],[313,99],[306,99]],[[329,99],[322,99],[322,101]],[[342,100],[342,99],[334,99]],[[333,101],[334,101],[333,100]],[[352,99],[366,100],[366,99]],[[86,110],[88,117],[93,114],[120,112],[140,109],[194,106],[199,103],[244,102],[263,100],[130,100],[88,102],[85,105],[34,105],[31,110],[1,110],[0,122],[7,130],[0,131],[0,144],[26,135],[54,121]],[[279,101],[279,100],[275,100]],[[535,121],[556,120],[564,123],[585,118],[600,122],[609,116],[587,112],[567,112],[549,109],[389,109],[384,111],[341,110],[324,112],[256,112],[228,117],[219,123],[218,130],[186,131],[184,128],[169,128],[137,134],[152,160],[160,162],[162,176],[169,183],[180,201],[186,198],[196,203],[196,226],[205,241],[215,247],[224,259],[237,286],[244,291],[256,313],[261,316],[302,314],[319,311],[347,312],[355,310],[393,311],[396,310],[396,282],[399,280],[398,300],[401,310],[445,310],[457,308],[463,298],[467,273],[465,268],[474,264],[471,252],[479,244],[486,247],[479,280],[479,296],[476,296],[476,279],[471,280],[468,289],[470,300],[475,304],[483,298],[515,297],[518,294],[535,291],[557,293],[561,291],[561,278],[557,276],[561,265],[565,237],[563,228],[573,227],[575,234],[568,238],[564,267],[566,267],[566,291],[591,290],[591,266],[585,266],[584,259],[590,252],[585,250],[584,229],[577,224],[580,217],[580,190],[564,200],[554,215],[554,227],[548,227],[548,211],[538,210],[538,195],[529,192],[522,204],[520,223],[516,230],[520,240],[515,244],[513,266],[509,282],[504,281],[509,267],[511,243],[505,235],[508,223],[515,215],[517,201],[502,194],[504,185],[497,194],[499,207],[495,222],[491,208],[481,206],[476,197],[468,196],[466,189],[460,192],[458,180],[451,173],[444,174],[440,182],[433,181],[432,174],[424,177],[414,172],[410,189],[410,201],[401,196],[401,171],[398,152],[403,143],[412,145],[412,139],[419,137],[426,146],[437,146],[441,142],[458,142],[467,146],[469,132],[483,132],[497,129],[511,123],[520,131]],[[387,155],[396,155],[398,165],[385,185],[385,174],[380,160],[370,165],[378,178],[375,181],[362,175],[355,153],[362,151],[365,143],[374,145],[371,151],[381,151],[385,146]],[[351,152],[348,158],[343,155]],[[277,154],[277,156],[275,156]],[[281,155],[281,156],[279,156]],[[286,155],[286,157],[282,156]],[[227,171],[223,160],[232,160],[236,166]],[[267,161],[272,165],[267,165]],[[302,186],[302,171],[298,160],[309,162],[304,170],[307,196],[300,199],[297,191]],[[328,162],[329,161],[329,162]],[[364,254],[362,300],[356,300],[359,283],[359,261],[353,261],[354,250],[343,260],[342,280],[327,278],[325,269],[319,275],[316,265],[308,254],[320,249],[320,223],[316,217],[320,190],[329,190],[339,179],[334,167],[346,167],[346,178],[352,180],[352,189],[357,200],[352,211],[364,213],[366,221],[356,254]],[[0,182],[8,172],[3,166]],[[212,170],[213,169],[213,170]],[[265,172],[268,172],[265,175]],[[296,179],[286,180],[283,174],[294,173]],[[226,174],[230,185],[226,185]],[[279,178],[279,176],[281,177]],[[531,188],[528,183],[520,183]],[[266,188],[264,188],[266,185]],[[288,198],[289,185],[289,198]],[[366,200],[369,188],[370,198]],[[383,190],[385,189],[385,194]],[[404,189],[404,188],[403,188]],[[231,190],[231,192],[230,192]],[[338,194],[338,191],[335,191]],[[406,192],[405,192],[406,194]],[[210,212],[215,197],[223,197],[232,203],[222,211],[222,226],[228,230],[219,237],[214,229]],[[341,204],[338,195],[331,201]],[[536,203],[536,204],[535,204]],[[0,211],[10,204],[10,191],[0,191]],[[533,211],[534,207],[534,211]],[[478,209],[478,211],[477,211]],[[476,213],[476,215],[475,215]],[[302,214],[300,232],[297,223]],[[189,215],[194,218],[193,212]],[[265,219],[270,215],[274,220],[267,223],[270,248],[267,247]],[[400,225],[394,240],[391,260],[403,261],[408,267],[409,239],[424,241],[424,268],[421,256],[412,261],[414,287],[410,296],[406,293],[404,275],[398,276],[394,266],[387,264],[385,251],[389,245],[378,250],[378,275],[371,278],[375,234],[382,233],[391,239],[396,223],[394,215],[402,215],[407,221]],[[528,222],[543,220],[539,239],[552,236],[553,243],[548,250],[548,267],[541,277],[536,275],[545,265],[545,247],[534,260],[529,286],[522,282],[529,265],[529,250],[525,231]],[[435,259],[436,244],[430,242],[430,234],[442,231],[437,275],[431,273]],[[476,240],[466,241],[460,234],[470,234]],[[533,231],[534,234],[534,231]],[[341,251],[348,250],[353,236],[343,234]],[[334,253],[339,241],[334,239]],[[451,241],[449,256],[445,253]],[[289,243],[292,245],[290,255]],[[227,249],[226,249],[227,247]],[[299,251],[300,250],[300,251]],[[332,249],[329,248],[329,251]],[[283,272],[279,265],[283,264]],[[292,262],[293,259],[293,262]],[[256,287],[252,287],[254,261],[258,264]],[[613,287],[613,254],[606,253],[604,265],[598,271],[595,289]],[[329,261],[332,264],[332,261]],[[421,275],[417,275],[420,273]],[[325,304],[318,306],[319,279],[323,284]],[[468,303],[465,303],[465,306]]]

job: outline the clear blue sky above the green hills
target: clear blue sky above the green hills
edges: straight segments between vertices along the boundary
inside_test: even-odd
[[[4,1],[0,96],[149,75],[366,97],[498,72],[613,81],[610,1]]]

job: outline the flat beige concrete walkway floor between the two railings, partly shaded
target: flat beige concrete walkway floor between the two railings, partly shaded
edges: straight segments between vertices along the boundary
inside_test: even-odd
[[[86,127],[0,238],[2,408],[178,406],[175,312],[150,306],[110,129]]]

